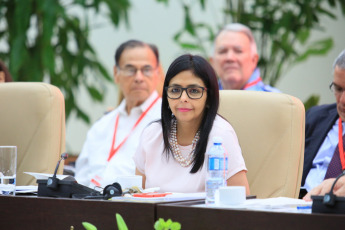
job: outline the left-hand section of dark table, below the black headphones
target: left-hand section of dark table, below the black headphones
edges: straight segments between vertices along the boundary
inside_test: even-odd
[[[30,196],[0,196],[0,229],[117,229],[119,213],[129,229],[153,229],[155,203],[117,202]]]

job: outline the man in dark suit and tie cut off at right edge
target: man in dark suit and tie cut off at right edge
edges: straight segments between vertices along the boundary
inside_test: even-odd
[[[308,192],[324,180],[337,177],[345,169],[342,147],[345,146],[345,50],[333,64],[330,89],[336,103],[315,106],[306,113],[302,187]]]

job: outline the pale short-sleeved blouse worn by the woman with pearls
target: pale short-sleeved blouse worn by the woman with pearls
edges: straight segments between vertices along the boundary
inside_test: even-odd
[[[242,170],[247,171],[234,129],[229,122],[218,115],[213,123],[206,151],[212,146],[215,136],[222,137],[223,147],[229,154],[227,179]],[[183,156],[192,149],[192,145],[179,147]],[[163,150],[162,126],[160,122],[154,122],[143,131],[133,157],[139,172],[146,176],[145,188],[160,187],[160,192],[204,192],[207,173],[206,155],[203,167],[197,173],[191,174],[192,165],[182,167],[172,154],[167,158]]]

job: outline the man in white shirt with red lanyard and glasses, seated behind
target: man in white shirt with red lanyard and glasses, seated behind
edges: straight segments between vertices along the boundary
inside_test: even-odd
[[[105,187],[118,176],[135,174],[132,157],[140,134],[161,114],[161,98],[155,90],[160,71],[156,46],[129,40],[118,47],[114,80],[124,99],[88,132],[76,161],[79,183]]]

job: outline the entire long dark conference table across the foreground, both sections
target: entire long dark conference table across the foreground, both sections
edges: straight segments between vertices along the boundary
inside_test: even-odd
[[[115,213],[129,230],[153,229],[159,218],[180,222],[182,229],[332,229],[345,215],[280,213],[198,207],[202,200],[127,202],[30,196],[0,196],[0,229],[117,229]],[[73,226],[73,228],[71,228]]]

